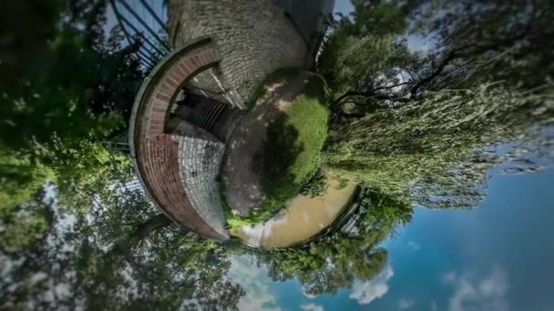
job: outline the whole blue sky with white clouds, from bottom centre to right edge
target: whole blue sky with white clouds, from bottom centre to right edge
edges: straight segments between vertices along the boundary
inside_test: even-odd
[[[274,283],[248,258],[231,276],[247,290],[242,310],[554,310],[554,169],[494,176],[475,210],[418,207],[385,241],[381,275],[335,296],[308,297],[298,282]]]

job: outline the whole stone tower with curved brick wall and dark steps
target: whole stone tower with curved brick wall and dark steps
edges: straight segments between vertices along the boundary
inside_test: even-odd
[[[173,222],[225,240],[218,174],[237,110],[276,69],[313,65],[333,1],[169,0],[168,9],[173,52],[137,95],[131,156],[146,192]],[[184,105],[183,87],[192,94]]]

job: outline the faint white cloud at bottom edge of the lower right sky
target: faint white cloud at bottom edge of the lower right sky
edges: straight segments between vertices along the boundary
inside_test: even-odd
[[[508,275],[499,266],[494,266],[489,275],[478,279],[465,273],[449,272],[443,276],[446,284],[454,286],[450,297],[451,311],[464,310],[509,310],[506,294],[509,290]]]

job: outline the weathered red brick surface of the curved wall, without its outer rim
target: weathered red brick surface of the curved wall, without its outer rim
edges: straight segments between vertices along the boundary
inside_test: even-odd
[[[195,55],[197,51],[191,53]],[[183,184],[184,180],[181,178],[180,137],[174,139],[171,135],[162,133],[169,101],[178,84],[190,74],[189,68],[180,66],[184,64],[184,59],[190,59],[190,55],[180,57],[182,59],[171,60],[173,67],[169,66],[165,73],[160,73],[161,78],[152,80],[151,87],[156,91],[147,93],[150,98],[142,98],[140,101],[140,105],[145,107],[138,110],[143,115],[134,116],[138,120],[136,126],[139,128],[139,133],[136,133],[139,143],[135,146],[135,156],[139,166],[142,166],[140,172],[143,174],[147,191],[169,216],[202,235],[223,239],[228,237],[228,233],[223,228],[225,219],[222,216],[221,204],[220,217],[205,215],[205,206],[199,204],[202,196],[194,192],[199,189],[205,191],[205,186],[191,188],[191,192],[187,193],[187,185]],[[159,85],[155,85],[156,83]]]

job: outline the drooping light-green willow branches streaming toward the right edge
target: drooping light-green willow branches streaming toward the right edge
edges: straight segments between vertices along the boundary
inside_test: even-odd
[[[551,95],[509,92],[502,85],[437,92],[335,129],[323,158],[391,196],[424,206],[471,207],[482,199],[479,186],[488,168],[531,151],[501,156],[487,147],[535,138],[536,146],[548,145],[538,138],[552,115]]]

